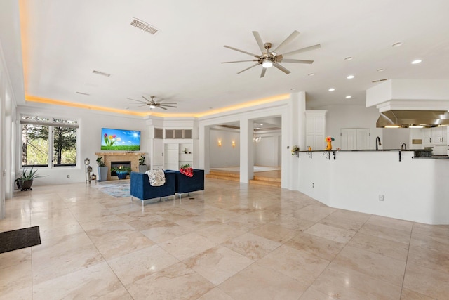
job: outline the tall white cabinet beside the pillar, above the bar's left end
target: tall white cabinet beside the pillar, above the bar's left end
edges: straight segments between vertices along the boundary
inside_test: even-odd
[[[326,110],[306,110],[306,148],[311,147],[312,150],[326,148],[325,129]]]

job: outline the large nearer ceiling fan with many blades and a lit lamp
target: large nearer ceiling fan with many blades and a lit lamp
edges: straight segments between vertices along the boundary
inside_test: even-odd
[[[237,74],[240,74],[241,72],[245,72],[246,70],[250,70],[250,68],[255,67],[256,65],[262,65],[262,73],[260,74],[260,78],[264,77],[265,72],[267,72],[267,68],[272,67],[272,66],[276,67],[277,69],[281,70],[282,72],[284,72],[286,74],[290,74],[290,71],[287,70],[286,67],[283,67],[282,65],[280,65],[279,63],[283,62],[283,63],[308,63],[308,64],[311,64],[314,61],[313,60],[297,60],[297,59],[291,59],[291,58],[283,58],[284,56],[290,56],[290,55],[297,54],[297,53],[311,51],[311,50],[318,49],[321,47],[320,44],[316,44],[314,46],[300,48],[295,51],[290,51],[290,52],[281,54],[280,53],[281,50],[285,46],[290,44],[290,42],[293,41],[293,39],[295,39],[295,37],[297,37],[298,34],[300,34],[300,32],[295,30],[292,34],[290,34],[287,37],[287,39],[285,39],[281,44],[279,44],[279,46],[277,46],[274,50],[272,50],[272,46],[273,46],[272,43],[264,43],[262,41],[262,39],[260,38],[259,32],[253,31],[253,35],[255,37],[255,40],[257,41],[257,45],[259,45],[260,51],[262,51],[262,54],[258,55],[258,54],[250,53],[247,51],[243,51],[243,50],[225,45],[224,46],[225,48],[229,48],[229,49],[232,49],[235,51],[239,51],[241,53],[249,54],[250,56],[254,56],[257,59],[227,61],[227,62],[223,62],[223,63],[243,63],[243,62],[248,62],[248,61],[255,61],[256,62],[255,65],[247,67],[245,70],[241,70]]]

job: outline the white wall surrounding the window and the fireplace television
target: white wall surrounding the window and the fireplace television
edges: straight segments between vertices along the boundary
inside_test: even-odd
[[[79,121],[79,135],[78,135],[78,158],[76,167],[42,167],[39,168],[38,174],[47,175],[46,177],[36,178],[33,185],[51,185],[63,183],[85,182],[85,167],[84,159],[91,160],[91,167],[93,173],[98,174],[97,164],[95,159],[97,156],[95,152],[102,152],[101,150],[101,129],[102,127],[116,128],[116,129],[130,129],[140,130],[140,152],[148,152],[149,132],[146,126],[145,119],[142,117],[133,117],[126,115],[112,115],[110,113],[95,112],[90,110],[79,110],[71,107],[69,110],[65,107],[58,107],[55,105],[35,105],[19,106],[17,111],[17,119],[20,120],[20,114],[39,115],[40,117],[51,116],[60,117],[62,119],[77,119]],[[80,117],[75,117],[80,116]],[[20,124],[16,130],[17,136],[20,136]],[[21,149],[20,141],[17,149]],[[117,151],[120,152],[120,151]],[[15,166],[16,174],[22,171],[20,157],[21,153],[16,153],[17,165]],[[67,178],[69,176],[69,178]]]

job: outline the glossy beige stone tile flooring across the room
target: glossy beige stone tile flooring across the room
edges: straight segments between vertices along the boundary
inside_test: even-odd
[[[84,183],[6,200],[0,299],[449,299],[449,226],[341,209],[280,188],[206,179],[146,204]],[[1,242],[1,241],[0,241]]]

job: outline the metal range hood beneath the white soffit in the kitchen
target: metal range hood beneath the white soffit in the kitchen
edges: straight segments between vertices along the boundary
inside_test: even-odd
[[[381,112],[376,127],[436,127],[449,125],[447,110],[389,110]]]

